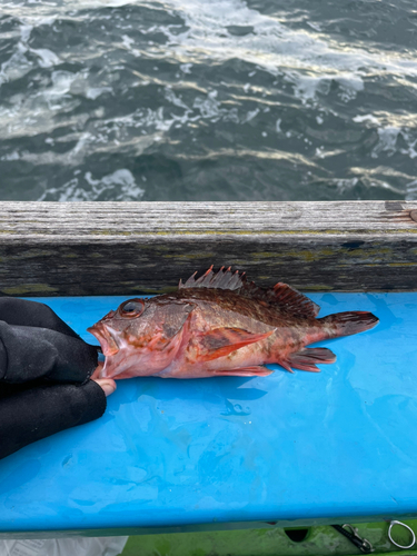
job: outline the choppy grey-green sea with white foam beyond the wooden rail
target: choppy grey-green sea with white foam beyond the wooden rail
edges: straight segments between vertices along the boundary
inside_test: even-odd
[[[1,199],[417,199],[414,0],[3,0],[0,68]]]

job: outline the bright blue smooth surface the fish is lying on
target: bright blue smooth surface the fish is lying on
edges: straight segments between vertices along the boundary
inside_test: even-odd
[[[320,342],[319,374],[119,381],[101,419],[0,461],[0,533],[417,517],[417,294],[309,297],[380,322]],[[38,298],[91,342],[125,299]]]

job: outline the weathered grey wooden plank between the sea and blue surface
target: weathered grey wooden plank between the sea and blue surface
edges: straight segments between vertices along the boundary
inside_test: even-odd
[[[131,295],[231,265],[260,285],[417,289],[417,201],[0,202],[2,295]]]

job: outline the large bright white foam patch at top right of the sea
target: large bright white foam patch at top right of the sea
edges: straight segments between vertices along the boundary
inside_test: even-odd
[[[180,34],[161,28],[178,58],[188,63],[245,60],[272,75],[286,76],[304,101],[315,99],[317,93],[327,95],[331,81],[339,85],[340,98],[349,101],[375,73],[417,76],[416,52],[381,56],[357,44],[340,44],[317,28],[311,32],[292,30],[274,16],[248,8],[242,0],[163,0],[163,7],[170,7],[188,27]],[[254,31],[236,37],[228,31],[230,26],[251,26]]]

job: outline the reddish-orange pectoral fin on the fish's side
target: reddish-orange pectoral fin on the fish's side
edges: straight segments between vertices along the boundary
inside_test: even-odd
[[[249,344],[269,338],[275,330],[252,334],[242,328],[215,328],[198,338],[198,361],[211,361]]]

